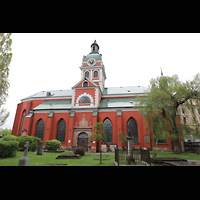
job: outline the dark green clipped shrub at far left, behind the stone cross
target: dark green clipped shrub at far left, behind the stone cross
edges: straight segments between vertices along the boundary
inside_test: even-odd
[[[14,157],[16,156],[19,148],[19,142],[17,141],[0,141],[0,157]]]

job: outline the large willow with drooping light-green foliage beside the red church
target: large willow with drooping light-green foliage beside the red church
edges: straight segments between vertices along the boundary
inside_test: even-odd
[[[188,124],[181,124],[178,115],[180,106],[184,104],[191,110],[194,124],[197,122],[197,115],[192,112],[189,100],[200,99],[200,74],[186,82],[180,81],[177,75],[151,79],[147,92],[147,97],[137,97],[137,100],[150,132],[154,127],[157,138],[171,138],[174,153],[181,153],[180,138],[187,134],[200,135],[199,125],[192,128]]]

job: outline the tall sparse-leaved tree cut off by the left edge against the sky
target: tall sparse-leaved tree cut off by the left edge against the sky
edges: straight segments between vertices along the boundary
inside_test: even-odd
[[[5,123],[5,120],[9,116],[9,112],[2,106],[6,102],[10,86],[8,82],[9,64],[12,58],[12,39],[10,36],[11,33],[0,33],[0,126]]]

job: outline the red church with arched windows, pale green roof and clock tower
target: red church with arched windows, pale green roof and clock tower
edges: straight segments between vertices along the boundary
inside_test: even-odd
[[[61,141],[63,149],[84,146],[96,152],[97,143],[89,142],[96,122],[104,123],[107,143],[122,147],[118,136],[130,130],[134,147],[151,148],[152,134],[136,107],[136,96],[147,95],[147,87],[105,87],[106,70],[96,40],[91,52],[83,56],[81,80],[68,90],[41,91],[23,98],[17,105],[12,135],[39,137]],[[159,148],[171,148],[162,141]]]

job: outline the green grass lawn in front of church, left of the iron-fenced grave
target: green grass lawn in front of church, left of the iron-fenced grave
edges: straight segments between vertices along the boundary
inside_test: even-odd
[[[114,155],[105,155],[102,154],[102,159],[110,161],[102,161],[100,165],[99,154],[88,153],[86,152],[84,156],[80,159],[56,159],[58,155],[67,154],[69,151],[63,153],[47,153],[43,152],[42,155],[36,155],[35,152],[28,152],[29,166],[42,166],[44,164],[67,164],[66,166],[115,166],[114,165]],[[0,166],[18,166],[19,159],[23,157],[24,152],[18,151],[15,157],[10,158],[0,158]]]

